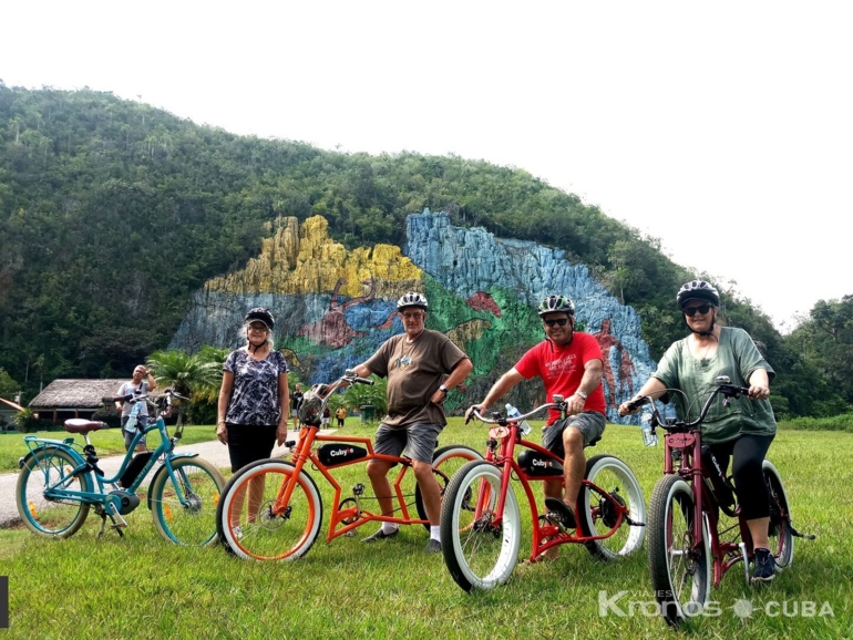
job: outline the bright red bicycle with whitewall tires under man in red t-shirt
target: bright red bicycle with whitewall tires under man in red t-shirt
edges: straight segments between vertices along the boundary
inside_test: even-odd
[[[646,503],[628,465],[613,455],[596,455],[586,462],[575,513],[578,527],[567,530],[557,514],[539,514],[532,483],[563,477],[563,460],[533,442],[523,440],[528,430],[520,424],[541,411],[566,403],[554,401],[524,415],[501,413],[484,417],[489,430],[485,460],[466,463],[448,485],[441,507],[441,539],[444,562],[465,591],[492,589],[512,575],[522,538],[521,509],[510,483],[517,479],[530,504],[533,548],[530,560],[565,543],[585,545],[594,556],[610,560],[643,546]],[[595,443],[593,443],[595,444]],[[515,460],[516,446],[524,447]],[[607,488],[605,488],[607,487]]]

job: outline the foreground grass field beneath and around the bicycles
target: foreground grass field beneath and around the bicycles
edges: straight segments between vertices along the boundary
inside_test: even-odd
[[[353,431],[372,434],[348,421],[346,432]],[[454,419],[441,444],[469,444],[482,451],[485,440],[482,425],[463,426]],[[769,457],[785,482],[797,527],[818,539],[797,541],[794,566],[769,589],[746,586],[741,567],[736,567],[713,592],[720,613],[680,631],[668,629],[648,605],[637,606],[634,616],[621,617],[612,609],[600,615],[602,592],[606,599],[625,591],[618,600],[623,610],[629,601],[654,600],[645,549],[625,561],[603,564],[582,547],[564,546],[557,561],[520,568],[505,586],[469,595],[450,578],[440,555],[422,553],[428,536],[421,527],[404,528],[393,540],[367,546],[359,541],[374,530],[367,525],[358,537],[340,537],[329,545],[318,541],[301,560],[258,564],[237,560],[220,548],[171,546],[157,536],[151,514],[141,507],[131,514],[124,539],[111,534],[97,540],[99,519],[93,515],[66,540],[40,539],[27,529],[0,530],[0,574],[9,576],[11,598],[10,629],[0,634],[851,638],[852,447],[853,434],[847,433],[779,433]],[[660,476],[661,446],[646,448],[636,429],[609,425],[593,453],[612,453],[627,462],[648,502]],[[367,482],[363,466],[351,468],[354,473],[340,476],[345,487]],[[329,500],[322,478],[314,477]],[[530,538],[523,540],[523,557],[530,545]],[[749,617],[742,616],[746,601],[752,608]],[[812,606],[814,615],[809,616]]]

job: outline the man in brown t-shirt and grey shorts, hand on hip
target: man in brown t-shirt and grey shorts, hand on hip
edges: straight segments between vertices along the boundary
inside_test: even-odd
[[[430,518],[430,541],[424,550],[438,553],[441,551],[441,487],[432,474],[432,454],[441,430],[448,424],[444,399],[474,365],[450,338],[424,328],[426,308],[423,295],[403,293],[397,301],[397,310],[405,333],[388,339],[354,371],[361,378],[371,373],[388,378],[388,415],[377,430],[373,451],[387,455],[404,453],[412,460],[414,477]],[[386,516],[393,515],[391,485],[387,478],[390,468],[391,464],[383,461],[368,463],[370,484]],[[363,541],[390,538],[397,531],[395,524],[382,523],[382,528]]]

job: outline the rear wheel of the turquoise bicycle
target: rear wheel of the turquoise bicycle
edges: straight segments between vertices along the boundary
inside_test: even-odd
[[[89,516],[89,505],[80,499],[56,498],[51,488],[91,492],[89,474],[71,472],[78,466],[70,453],[61,448],[35,450],[24,460],[18,474],[14,502],[23,524],[44,537],[73,536]]]

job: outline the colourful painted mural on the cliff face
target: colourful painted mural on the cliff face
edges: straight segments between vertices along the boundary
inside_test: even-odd
[[[234,348],[244,340],[246,310],[268,307],[276,317],[276,348],[304,381],[327,382],[402,331],[394,302],[418,290],[430,301],[426,327],[446,333],[474,363],[465,385],[448,399],[448,407],[459,412],[542,340],[534,307],[562,292],[575,300],[578,329],[602,345],[608,417],[621,422],[616,406],[655,368],[633,308],[619,304],[561,249],[454,227],[449,216],[429,210],[409,216],[405,230],[402,248],[348,250],[328,236],[320,216],[301,225],[282,218],[260,256],[195,293],[171,347]],[[542,385],[532,381],[507,401],[532,406],[543,400]]]

